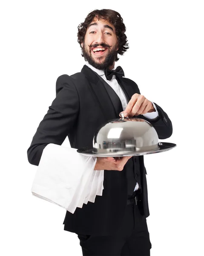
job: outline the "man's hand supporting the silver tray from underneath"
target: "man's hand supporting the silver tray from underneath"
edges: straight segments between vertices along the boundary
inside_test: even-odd
[[[121,159],[119,159],[121,158]],[[122,171],[131,157],[97,157],[94,170]]]

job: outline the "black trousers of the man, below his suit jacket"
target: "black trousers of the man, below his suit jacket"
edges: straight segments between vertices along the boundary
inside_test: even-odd
[[[129,198],[134,198],[136,193]],[[152,244],[149,240],[147,221],[145,216],[141,215],[135,200],[133,204],[127,205],[121,227],[114,235],[77,235],[83,256],[150,256]]]

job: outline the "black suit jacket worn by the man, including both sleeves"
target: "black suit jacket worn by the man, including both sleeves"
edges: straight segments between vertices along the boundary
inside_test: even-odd
[[[40,122],[32,143],[27,150],[29,163],[38,166],[43,149],[49,143],[61,145],[66,136],[72,148],[92,147],[95,131],[123,111],[121,101],[114,90],[88,66],[72,76],[61,75],[56,81],[56,98]],[[137,84],[127,78],[117,78],[127,100],[140,93]],[[159,139],[172,134],[172,123],[160,106],[157,119],[147,119],[157,131]],[[129,159],[134,160],[135,157]],[[146,169],[144,157],[139,156],[142,214],[149,216]],[[127,203],[126,166],[123,171],[104,170],[103,195],[96,196],[95,203],[88,202],[74,214],[66,211],[64,230],[95,235],[110,235],[117,231]]]

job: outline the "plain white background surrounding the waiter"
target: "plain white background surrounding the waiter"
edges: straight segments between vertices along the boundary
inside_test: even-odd
[[[85,63],[77,27],[94,9],[121,14],[129,49],[115,67],[173,124],[163,141],[177,147],[144,157],[151,256],[204,255],[202,1],[102,2],[1,1],[1,255],[82,255],[77,235],[63,230],[66,210],[32,196],[37,166],[27,149],[55,99],[57,77]]]

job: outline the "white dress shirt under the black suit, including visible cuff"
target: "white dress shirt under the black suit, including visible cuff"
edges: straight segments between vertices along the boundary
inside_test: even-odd
[[[101,76],[106,81],[106,83],[108,83],[110,85],[110,87],[112,87],[112,89],[115,91],[115,93],[120,98],[121,104],[122,104],[122,107],[123,107],[123,111],[124,111],[126,109],[126,106],[127,106],[128,102],[127,102],[127,99],[126,99],[126,96],[125,96],[123,90],[121,89],[120,85],[118,84],[118,81],[115,79],[115,75],[112,76],[111,80],[107,80],[103,70],[98,70],[97,68],[95,68],[91,64],[89,64],[88,61],[86,61],[86,66],[88,66],[93,71],[95,71],[99,76]],[[113,68],[112,70],[115,70],[115,68]],[[143,115],[144,117],[146,117],[148,119],[155,119],[158,116],[157,108],[156,108],[156,106],[153,102],[152,102],[152,104],[153,104],[156,111],[146,113],[146,114]],[[134,191],[138,190],[138,189],[139,189],[139,185],[137,183],[136,186],[135,186]]]

